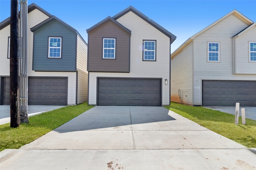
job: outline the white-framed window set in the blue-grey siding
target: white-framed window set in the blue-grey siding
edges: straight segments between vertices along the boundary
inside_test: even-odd
[[[61,58],[61,37],[49,37],[48,58]]]

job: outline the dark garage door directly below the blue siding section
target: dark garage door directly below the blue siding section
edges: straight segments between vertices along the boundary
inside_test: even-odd
[[[67,105],[67,98],[67,78],[28,78],[29,105]]]

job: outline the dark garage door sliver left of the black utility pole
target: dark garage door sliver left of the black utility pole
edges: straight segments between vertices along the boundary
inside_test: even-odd
[[[10,77],[1,78],[1,104],[10,105]]]

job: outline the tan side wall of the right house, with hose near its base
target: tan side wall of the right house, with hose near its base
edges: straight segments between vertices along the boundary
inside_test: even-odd
[[[180,103],[180,89],[183,104],[192,105],[192,57],[193,42],[190,42],[180,53],[172,56],[171,61],[171,102]]]

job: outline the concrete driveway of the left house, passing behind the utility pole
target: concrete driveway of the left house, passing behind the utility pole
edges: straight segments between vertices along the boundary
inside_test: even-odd
[[[44,113],[46,111],[51,111],[55,109],[59,109],[65,106],[36,106],[29,105],[28,106],[28,117],[33,115],[38,115]],[[9,105],[0,105],[0,125],[10,122],[10,106]]]

